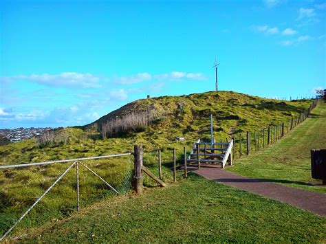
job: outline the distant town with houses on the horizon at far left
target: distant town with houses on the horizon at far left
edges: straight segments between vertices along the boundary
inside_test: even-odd
[[[45,131],[50,131],[54,128],[17,128],[17,129],[0,129],[0,138],[6,138],[10,142],[20,142],[21,140],[30,139],[41,135]]]

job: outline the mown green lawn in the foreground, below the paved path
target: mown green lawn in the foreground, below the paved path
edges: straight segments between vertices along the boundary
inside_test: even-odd
[[[326,241],[326,219],[191,175],[180,184],[113,197],[24,233],[28,242]]]

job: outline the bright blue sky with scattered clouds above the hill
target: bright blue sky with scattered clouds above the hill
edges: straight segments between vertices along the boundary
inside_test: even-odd
[[[325,89],[326,1],[0,0],[0,129],[76,126],[215,89]]]

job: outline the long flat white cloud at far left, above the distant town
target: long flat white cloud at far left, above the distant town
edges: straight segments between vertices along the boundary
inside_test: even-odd
[[[61,74],[32,74],[30,76],[10,76],[2,77],[1,80],[29,80],[30,82],[37,82],[41,85],[52,87],[100,87],[100,76],[85,73],[80,74],[76,72],[63,72]],[[105,78],[102,78],[106,80]]]

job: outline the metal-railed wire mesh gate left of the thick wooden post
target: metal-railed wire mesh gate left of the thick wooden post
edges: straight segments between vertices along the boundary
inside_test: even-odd
[[[131,189],[131,153],[0,166],[0,241]]]

